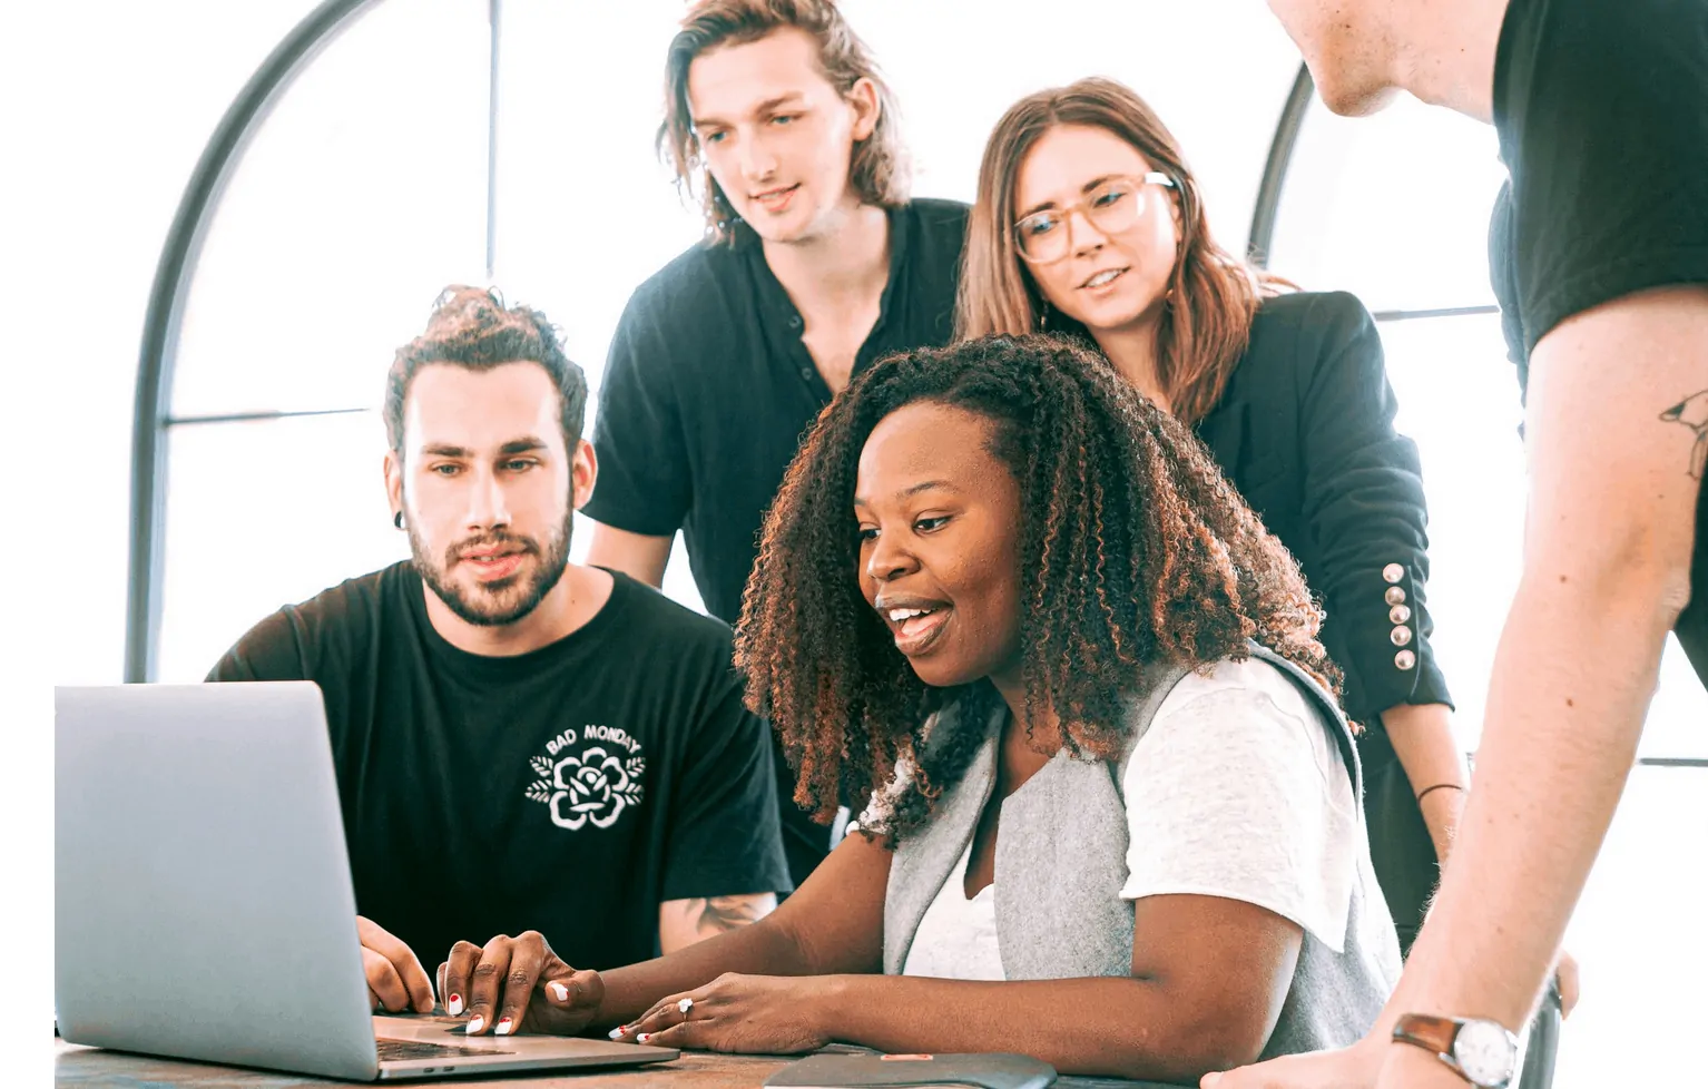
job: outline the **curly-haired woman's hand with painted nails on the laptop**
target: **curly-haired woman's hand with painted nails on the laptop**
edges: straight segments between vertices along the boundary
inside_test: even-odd
[[[552,952],[543,934],[524,930],[516,937],[500,934],[485,947],[451,946],[451,959],[439,964],[439,992],[453,1016],[463,1012],[468,995],[470,1036],[572,1036],[598,1016],[605,980],[596,971],[576,971]]]

